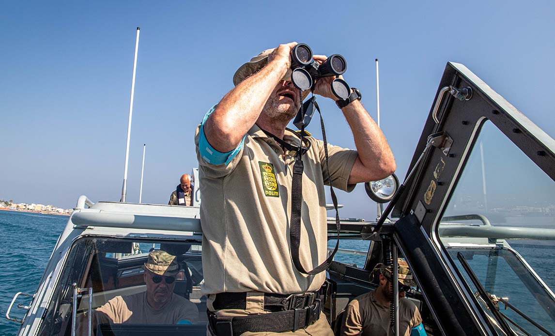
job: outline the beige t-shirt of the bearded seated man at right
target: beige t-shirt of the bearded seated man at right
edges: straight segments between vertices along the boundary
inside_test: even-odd
[[[410,336],[411,329],[422,323],[420,312],[407,298],[399,300],[399,330]],[[393,336],[390,327],[389,306],[377,302],[375,291],[362,294],[351,301],[345,309],[345,324],[341,336]]]

